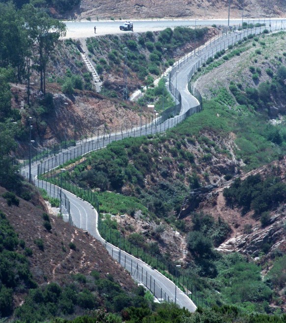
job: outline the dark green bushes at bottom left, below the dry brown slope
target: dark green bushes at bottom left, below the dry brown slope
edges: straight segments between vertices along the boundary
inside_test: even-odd
[[[143,287],[133,293],[126,293],[112,275],[100,278],[98,271],[91,271],[89,276],[74,274],[71,283],[60,287],[50,283],[29,291],[25,303],[16,309],[15,317],[21,322],[42,322],[55,317],[88,313],[90,310],[105,308],[109,322],[121,322],[120,313],[127,307],[149,309],[152,296],[145,294]],[[149,298],[148,298],[149,297]]]

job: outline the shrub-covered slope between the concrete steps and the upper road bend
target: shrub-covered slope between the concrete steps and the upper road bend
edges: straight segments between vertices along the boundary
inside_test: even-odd
[[[131,89],[140,88],[142,84],[153,87],[154,78],[160,76],[166,68],[172,66],[177,51],[190,42],[201,42],[206,35],[207,28],[197,28],[196,36],[193,28],[175,27],[174,30],[166,28],[158,33],[147,31],[138,35],[125,34],[121,37],[109,35],[108,37],[87,38],[86,46],[88,56],[96,64],[96,70],[103,80],[101,93],[111,97],[122,96],[127,86]],[[108,48],[108,50],[107,50]],[[116,84],[105,78],[109,73],[120,75],[123,81]],[[131,81],[130,81],[131,79]],[[122,89],[123,87],[123,89]],[[125,93],[128,95],[128,93]],[[146,105],[155,102],[156,110],[163,105],[172,104],[168,91],[163,93],[163,81],[156,88],[148,88],[139,104]]]

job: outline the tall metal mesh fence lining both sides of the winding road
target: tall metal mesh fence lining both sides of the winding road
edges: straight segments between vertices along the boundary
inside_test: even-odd
[[[254,33],[261,33],[261,26],[251,28],[251,31],[254,29]],[[283,22],[281,22],[281,28]],[[34,183],[39,188],[43,188],[47,191],[47,193],[52,196],[60,199],[60,203],[64,208],[64,219],[73,225],[72,216],[70,214],[70,201],[67,195],[62,191],[62,189],[67,189],[70,192],[73,192],[77,196],[82,197],[84,200],[89,201],[95,209],[98,211],[99,215],[99,203],[97,196],[91,190],[85,190],[83,188],[75,187],[72,183],[64,182],[62,183],[62,178],[57,172],[57,167],[62,166],[65,162],[68,162],[72,159],[78,159],[80,156],[85,155],[88,152],[93,150],[104,148],[108,143],[112,141],[122,140],[127,137],[136,137],[141,135],[154,135],[157,133],[165,132],[166,130],[176,126],[178,123],[185,120],[190,115],[200,112],[202,109],[202,98],[200,92],[191,84],[191,78],[196,73],[198,68],[204,64],[209,57],[213,57],[218,51],[228,49],[229,45],[233,45],[238,41],[244,39],[249,36],[249,29],[242,29],[239,32],[235,29],[229,30],[226,33],[223,33],[221,36],[216,37],[203,46],[196,49],[197,54],[193,51],[188,55],[182,57],[173,67],[169,73],[169,90],[172,95],[175,97],[178,102],[175,106],[164,110],[160,116],[158,117],[149,117],[148,120],[145,118],[142,122],[142,118],[140,120],[140,124],[138,122],[136,124],[122,124],[121,127],[115,127],[115,129],[104,128],[101,133],[99,133],[99,129],[94,133],[91,132],[91,138],[87,138],[87,133],[85,136],[82,134],[79,135],[80,141],[76,142],[76,138],[69,138],[68,140],[63,141],[61,144],[54,144],[48,148],[43,148],[41,151],[37,151],[34,154],[31,164],[34,163],[37,165],[36,173],[38,176],[47,173],[47,181],[39,180],[39,178],[34,177]],[[273,28],[274,29],[274,28]],[[276,30],[277,29],[277,21],[276,21]],[[262,31],[263,32],[263,31]],[[181,112],[181,94],[178,91],[177,87],[173,85],[174,78],[176,77],[176,72],[184,65],[192,64],[192,68],[188,74],[188,90],[192,93],[199,101],[199,105],[189,108],[186,112]],[[38,163],[39,161],[39,163]],[[24,176],[29,178],[29,174],[26,172],[27,161],[23,162],[24,171],[22,172]],[[53,172],[49,173],[50,170]],[[60,176],[60,177],[59,177]],[[48,182],[50,181],[50,182]],[[107,228],[104,224],[104,221],[99,216],[98,220],[98,229],[101,231],[102,238],[106,240],[105,246],[109,249],[110,254],[114,257],[114,259],[118,260],[119,264],[124,266],[127,270],[131,272],[132,277],[144,284],[152,293],[156,294],[158,298],[161,298],[164,301],[173,301],[170,295],[167,295],[163,292],[160,286],[156,285],[155,278],[151,275],[148,276],[147,271],[144,272],[143,263],[142,267],[140,267],[137,263],[135,268],[133,264],[126,264],[126,256],[123,260],[121,259],[121,250],[126,250],[127,252],[132,253],[132,249],[135,250],[135,254],[142,258],[142,260],[149,264],[150,266],[157,268],[159,271],[168,275],[169,278],[178,285],[178,288],[187,295],[191,295],[191,298],[197,304],[201,304],[202,297],[200,293],[193,288],[192,282],[189,282],[189,279],[184,277],[184,275],[180,274],[180,271],[174,268],[169,262],[165,259],[159,259],[158,255],[147,254],[146,250],[144,250],[139,245],[132,245],[125,242],[124,237],[118,237],[118,233],[116,233],[116,238],[112,233],[106,232]],[[116,240],[115,240],[116,239]],[[118,245],[119,239],[119,248],[115,247],[111,243],[116,243]],[[110,243],[109,243],[110,242]],[[123,245],[121,244],[123,243]],[[127,244],[126,244],[127,243]],[[122,247],[122,248],[121,248]],[[148,258],[149,257],[149,258]],[[181,282],[180,282],[181,278]],[[190,290],[189,290],[190,288]],[[159,297],[160,295],[161,297]],[[176,302],[176,297],[174,299]]]

